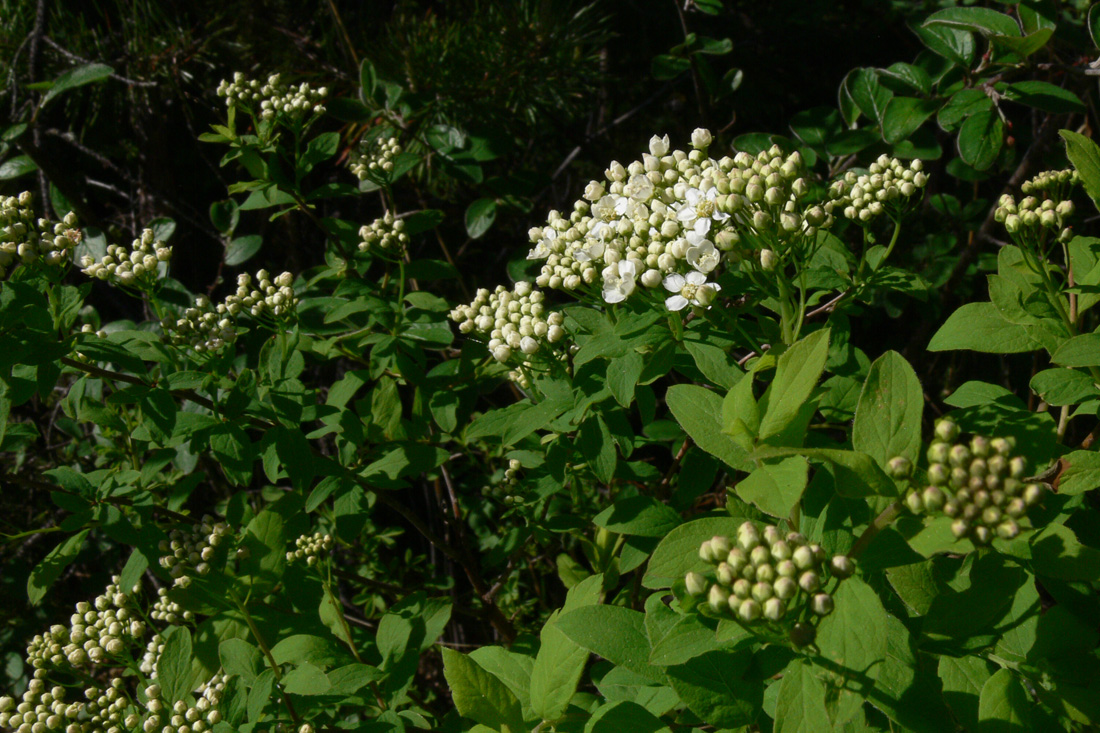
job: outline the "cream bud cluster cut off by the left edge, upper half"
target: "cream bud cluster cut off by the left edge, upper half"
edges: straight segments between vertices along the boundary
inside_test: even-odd
[[[35,219],[32,200],[30,192],[0,196],[0,280],[20,265],[66,262],[84,238],[75,214],[66,214],[58,222]]]

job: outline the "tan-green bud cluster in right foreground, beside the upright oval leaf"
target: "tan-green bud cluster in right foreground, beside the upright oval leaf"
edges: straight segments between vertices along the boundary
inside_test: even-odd
[[[1012,438],[965,441],[955,423],[939,420],[928,446],[928,485],[909,494],[906,505],[914,513],[954,517],[952,533],[975,545],[1012,539],[1044,493],[1043,484],[1024,483],[1027,461],[1013,455],[1013,446]]]

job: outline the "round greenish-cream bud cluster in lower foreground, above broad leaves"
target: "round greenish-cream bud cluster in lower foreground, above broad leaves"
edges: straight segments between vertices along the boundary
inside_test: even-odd
[[[705,540],[698,556],[714,571],[706,576],[689,572],[688,592],[705,598],[716,615],[734,616],[741,623],[796,620],[804,606],[815,615],[827,615],[833,611],[833,597],[825,591],[827,577],[843,580],[855,571],[846,556],[829,559],[821,545],[807,543],[798,533],[784,537],[773,525],[761,532],[751,522],[738,527],[734,543],[726,537]],[[800,627],[792,632],[792,639],[805,633]]]

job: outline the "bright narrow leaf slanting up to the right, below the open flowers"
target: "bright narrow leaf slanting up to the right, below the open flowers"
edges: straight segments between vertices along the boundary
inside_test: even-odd
[[[760,400],[763,413],[760,420],[761,440],[783,433],[802,412],[802,406],[810,398],[825,369],[828,338],[827,328],[814,331],[779,357],[776,379]],[[718,414],[721,415],[721,408]]]

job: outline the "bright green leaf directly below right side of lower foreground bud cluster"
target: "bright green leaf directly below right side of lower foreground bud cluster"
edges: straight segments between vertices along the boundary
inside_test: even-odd
[[[822,655],[847,676],[875,679],[887,653],[887,612],[859,578],[848,578],[833,593],[835,610],[817,627]]]

